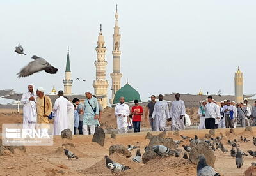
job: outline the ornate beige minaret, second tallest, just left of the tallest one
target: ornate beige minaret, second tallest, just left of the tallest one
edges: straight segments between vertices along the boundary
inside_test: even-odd
[[[108,106],[108,80],[106,80],[107,61],[105,60],[106,47],[101,24],[95,50],[97,52],[97,60],[94,62],[96,66],[96,80],[93,81],[94,93],[98,98],[103,96],[103,98],[100,98],[100,104],[102,108],[106,108],[106,106]]]

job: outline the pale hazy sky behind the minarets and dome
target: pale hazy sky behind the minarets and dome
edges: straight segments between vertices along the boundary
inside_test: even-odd
[[[234,94],[237,66],[244,73],[244,93],[255,94],[256,1],[111,1],[22,0],[0,3],[0,89],[25,92],[29,83],[50,92],[63,89],[70,46],[72,92],[83,94],[95,80],[95,47],[100,23],[106,41],[111,95],[113,27],[118,3],[122,85],[150,94],[172,92]],[[20,43],[28,55],[19,55]],[[20,68],[44,57],[59,68],[17,78]],[[86,80],[77,82],[76,77]]]

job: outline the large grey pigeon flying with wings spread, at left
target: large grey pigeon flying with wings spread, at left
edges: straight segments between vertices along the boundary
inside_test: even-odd
[[[35,59],[32,62],[29,62],[27,66],[22,68],[19,73],[17,73],[18,78],[20,77],[27,77],[29,75],[32,75],[33,73],[36,73],[38,71],[44,70],[47,73],[55,74],[58,71],[58,68],[55,68],[51,66],[45,59],[41,57],[37,57],[36,55],[33,55],[32,59]]]

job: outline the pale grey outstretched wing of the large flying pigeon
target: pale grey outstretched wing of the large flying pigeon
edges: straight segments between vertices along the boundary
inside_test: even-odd
[[[17,73],[18,78],[20,77],[27,77],[29,75],[32,75],[33,73],[36,73],[38,71],[42,71],[47,67],[48,62],[45,61],[45,59],[35,59],[35,61],[29,62],[27,66],[22,68],[19,73]]]

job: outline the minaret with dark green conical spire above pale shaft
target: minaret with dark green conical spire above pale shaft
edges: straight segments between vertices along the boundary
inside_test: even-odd
[[[69,48],[68,48],[66,71],[65,71],[65,80],[63,80],[64,94],[65,95],[70,95],[72,93],[71,92],[72,83],[73,83],[73,80],[71,79],[71,70],[70,70],[70,61],[69,61]]]

